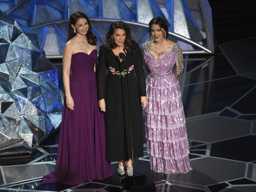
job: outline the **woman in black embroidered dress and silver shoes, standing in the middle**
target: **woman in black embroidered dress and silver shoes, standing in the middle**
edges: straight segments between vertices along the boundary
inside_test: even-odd
[[[132,176],[127,86],[134,158],[139,158],[143,157],[142,109],[147,105],[143,58],[139,45],[131,39],[130,28],[126,23],[112,23],[106,39],[106,43],[99,48],[97,77],[99,107],[105,112],[106,159],[118,161],[119,174]],[[119,53],[125,54],[125,63]]]

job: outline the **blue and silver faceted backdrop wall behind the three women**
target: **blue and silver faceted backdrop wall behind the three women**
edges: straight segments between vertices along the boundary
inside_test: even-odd
[[[38,34],[46,55],[62,55],[68,33],[69,16],[82,11],[90,18],[115,18],[148,24],[161,16],[168,22],[169,31],[187,37],[213,51],[211,10],[206,0],[8,0],[0,1],[0,10],[9,19]],[[207,9],[209,8],[209,9]],[[65,21],[65,22],[63,22]],[[207,22],[206,22],[207,21]],[[105,42],[111,22],[93,21],[98,47]],[[147,27],[131,27],[132,37],[139,45],[148,39]],[[179,43],[183,51],[200,50],[191,44]]]

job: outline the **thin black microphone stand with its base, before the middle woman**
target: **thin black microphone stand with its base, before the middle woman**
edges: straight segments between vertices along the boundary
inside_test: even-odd
[[[128,103],[129,103],[129,113],[130,113],[130,133],[131,133],[131,154],[132,154],[132,161],[133,161],[133,176],[128,178],[123,178],[121,180],[122,187],[125,189],[130,190],[131,192],[139,192],[139,191],[147,191],[147,192],[155,192],[155,183],[150,180],[145,175],[135,177],[134,172],[134,157],[133,157],[133,131],[131,126],[131,103],[130,103],[130,94],[129,94],[129,80],[128,80],[128,67],[125,63],[125,54],[119,53],[119,57],[123,59],[123,62],[126,67],[127,72],[127,92],[128,92]]]

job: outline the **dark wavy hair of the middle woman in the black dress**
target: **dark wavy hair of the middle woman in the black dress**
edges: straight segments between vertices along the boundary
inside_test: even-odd
[[[123,42],[123,45],[124,45],[123,51],[128,52],[130,54],[134,54],[135,48],[133,46],[133,43],[135,41],[131,38],[130,27],[125,22],[122,22],[122,21],[117,21],[110,25],[109,31],[107,32],[107,35],[106,35],[106,42],[104,43],[104,46],[107,49],[107,51],[110,52],[111,49],[115,49],[117,47],[115,42],[112,42],[112,37],[111,37],[114,34],[115,29],[123,29],[125,31],[126,37],[125,37],[125,42]]]

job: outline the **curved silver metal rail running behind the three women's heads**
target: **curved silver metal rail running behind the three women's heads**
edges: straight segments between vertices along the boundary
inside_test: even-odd
[[[145,24],[145,23],[139,23],[139,22],[134,22],[134,21],[129,21],[129,20],[125,20],[125,19],[112,19],[112,18],[90,18],[91,21],[105,21],[105,22],[116,22],[116,21],[124,21],[128,24],[132,24],[132,25],[137,25],[137,26],[140,26],[140,27],[146,27],[148,28],[149,25],[148,24]],[[51,21],[51,22],[46,22],[46,23],[41,23],[41,24],[38,24],[38,25],[33,25],[33,26],[30,26],[28,27],[29,29],[35,29],[35,28],[38,28],[38,27],[45,27],[45,26],[49,26],[49,25],[55,25],[55,24],[60,24],[60,23],[68,23],[69,22],[69,19],[63,19],[63,20],[58,20],[58,21]],[[204,46],[200,45],[199,43],[197,42],[194,42],[192,41],[191,39],[188,39],[187,37],[184,37],[182,35],[179,35],[177,33],[174,33],[174,32],[171,32],[169,31],[169,34],[170,35],[173,35],[175,37],[177,37],[178,39],[181,39],[183,41],[186,41],[188,42],[189,44],[191,45],[194,45],[200,49],[202,49],[203,51],[189,51],[188,53],[208,53],[210,54],[211,53],[211,50],[205,48]],[[188,54],[188,53],[185,53],[184,54]]]

